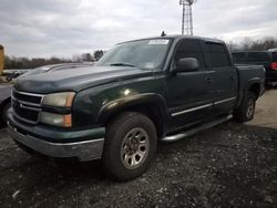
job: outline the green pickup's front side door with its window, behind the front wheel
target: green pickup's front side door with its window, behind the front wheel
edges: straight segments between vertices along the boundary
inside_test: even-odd
[[[167,79],[167,105],[172,127],[201,121],[213,113],[213,71],[207,71],[199,40],[184,39],[176,48],[173,65],[183,58],[195,58],[199,62],[196,72],[171,74]]]

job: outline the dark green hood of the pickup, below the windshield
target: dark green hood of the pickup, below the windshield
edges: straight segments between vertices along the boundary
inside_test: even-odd
[[[79,92],[106,83],[137,79],[152,75],[152,71],[143,71],[126,66],[90,66],[75,67],[49,73],[21,76],[14,89],[30,93]]]

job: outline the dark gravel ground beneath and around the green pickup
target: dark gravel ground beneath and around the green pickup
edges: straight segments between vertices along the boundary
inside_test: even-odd
[[[57,166],[0,129],[0,207],[276,207],[277,91],[249,124],[228,122],[162,144],[150,170],[114,183],[98,163]]]

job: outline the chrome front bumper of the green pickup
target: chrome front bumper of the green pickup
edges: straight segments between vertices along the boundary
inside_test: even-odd
[[[104,138],[75,143],[50,143],[23,135],[9,123],[8,132],[16,142],[50,157],[76,157],[80,162],[100,159],[104,147]]]

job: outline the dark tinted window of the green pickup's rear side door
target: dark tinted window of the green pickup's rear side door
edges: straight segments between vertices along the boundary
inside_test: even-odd
[[[212,67],[230,66],[229,55],[224,44],[206,43]]]

